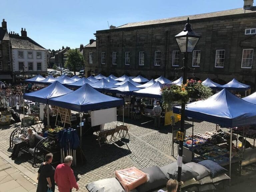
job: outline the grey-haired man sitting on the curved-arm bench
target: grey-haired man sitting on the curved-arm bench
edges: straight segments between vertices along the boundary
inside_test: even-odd
[[[22,142],[16,143],[14,145],[12,154],[9,157],[13,157],[13,158],[18,157],[18,154],[22,147],[28,146],[29,148],[34,148],[35,138],[36,138],[36,132],[33,131],[32,128],[28,128],[28,134],[26,135],[26,137],[22,137],[22,136],[20,137]]]

